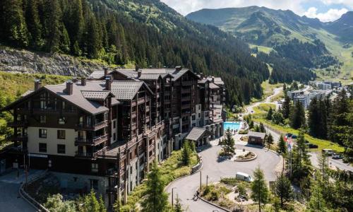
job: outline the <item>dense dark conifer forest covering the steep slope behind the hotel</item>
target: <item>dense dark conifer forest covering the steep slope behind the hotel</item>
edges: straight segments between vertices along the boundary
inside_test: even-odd
[[[117,66],[182,65],[222,76],[228,105],[261,98],[261,83],[269,71],[251,56],[244,42],[215,27],[186,20],[160,1],[133,1],[141,4],[138,8],[160,10],[157,18],[146,17],[127,2],[3,0],[0,42],[36,52],[102,59]]]

